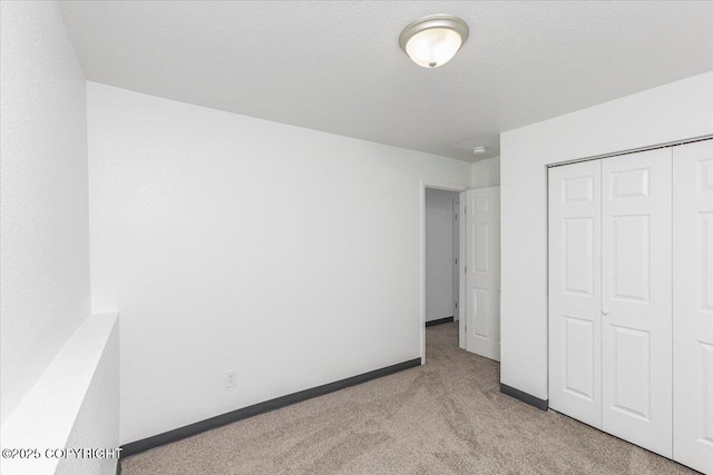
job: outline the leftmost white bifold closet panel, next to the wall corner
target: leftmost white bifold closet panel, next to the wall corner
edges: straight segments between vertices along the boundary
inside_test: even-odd
[[[602,161],[549,169],[549,406],[602,428]]]

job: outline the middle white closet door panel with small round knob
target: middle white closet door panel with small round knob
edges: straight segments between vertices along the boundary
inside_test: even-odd
[[[602,161],[602,428],[672,456],[671,148]]]

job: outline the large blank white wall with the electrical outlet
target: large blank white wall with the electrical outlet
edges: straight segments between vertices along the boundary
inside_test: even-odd
[[[420,180],[468,164],[97,83],[88,125],[121,443],[421,356]]]

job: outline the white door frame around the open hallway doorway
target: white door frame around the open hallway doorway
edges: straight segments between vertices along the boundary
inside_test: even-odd
[[[440,190],[447,190],[447,191],[456,191],[456,192],[462,192],[466,191],[468,189],[467,185],[459,185],[459,184],[453,184],[453,182],[447,182],[447,181],[438,181],[438,180],[428,180],[428,179],[421,179],[420,182],[420,209],[421,209],[421,269],[420,269],[420,274],[421,274],[421,311],[420,311],[420,318],[419,318],[419,324],[421,325],[421,365],[426,364],[426,189],[427,188],[431,188],[431,189],[440,189]],[[463,206],[465,206],[465,200],[460,200],[460,216],[463,216]],[[460,275],[462,276],[462,269],[463,269],[463,261],[465,261],[465,254],[466,254],[466,247],[465,247],[465,232],[466,232],[466,227],[463,226],[463,220],[460,219],[459,220],[459,250],[458,250],[458,271],[461,273]],[[458,280],[458,300],[459,301],[463,301],[465,298],[465,291],[466,291],[466,279],[461,278]],[[463,318],[463,313],[462,313],[462,305],[458,305],[458,346],[463,348],[466,345],[466,333],[465,333],[465,318]]]

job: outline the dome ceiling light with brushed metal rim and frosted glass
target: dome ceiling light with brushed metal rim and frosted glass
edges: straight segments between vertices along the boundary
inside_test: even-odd
[[[446,65],[468,39],[468,23],[450,14],[431,14],[401,31],[399,44],[413,62],[423,68]]]

